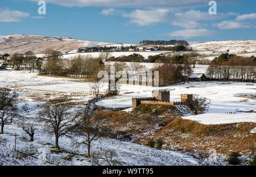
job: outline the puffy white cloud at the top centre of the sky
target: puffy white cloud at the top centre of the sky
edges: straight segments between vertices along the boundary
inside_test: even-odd
[[[129,14],[123,14],[123,17],[131,18],[131,23],[136,23],[138,26],[150,26],[155,23],[164,22],[169,10],[134,10]]]

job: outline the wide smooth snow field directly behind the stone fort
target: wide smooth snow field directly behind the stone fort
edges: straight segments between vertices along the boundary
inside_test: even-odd
[[[236,111],[255,110],[256,100],[236,97],[242,94],[254,94],[255,86],[245,83],[221,84],[222,82],[190,82],[184,85],[160,87],[172,90],[170,100],[179,101],[180,94],[197,94],[211,100],[209,113],[225,113]],[[156,88],[136,85],[122,85],[123,92],[135,91],[131,94],[115,96],[113,99],[100,100],[96,104],[107,107],[131,107],[131,98],[151,96],[151,91]],[[174,90],[175,89],[175,90]],[[129,101],[130,100],[130,101]]]

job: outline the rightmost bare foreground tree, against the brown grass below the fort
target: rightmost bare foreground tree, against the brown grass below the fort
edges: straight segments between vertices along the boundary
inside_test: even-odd
[[[92,141],[100,138],[104,129],[105,119],[102,113],[96,112],[94,115],[92,115],[92,113],[89,113],[88,111],[84,112],[80,122],[75,128],[73,128],[73,132],[84,137],[84,139],[81,142],[75,140],[74,145],[76,147],[87,146],[87,155],[90,157],[90,145]]]

